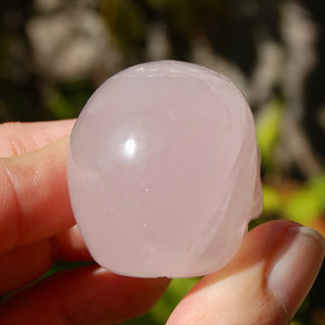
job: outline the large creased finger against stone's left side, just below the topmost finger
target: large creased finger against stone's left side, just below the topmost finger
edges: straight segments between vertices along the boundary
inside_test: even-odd
[[[66,184],[67,144],[65,138],[0,158],[0,252],[75,224]]]

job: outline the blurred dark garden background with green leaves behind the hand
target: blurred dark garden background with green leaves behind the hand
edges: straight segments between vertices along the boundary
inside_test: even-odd
[[[317,0],[1,0],[0,121],[77,117],[136,63],[202,64],[230,77],[255,114],[264,211],[251,226],[287,218],[324,235],[324,17]],[[123,324],[165,324],[196,281],[174,280]],[[325,324],[325,270],[292,324]]]

